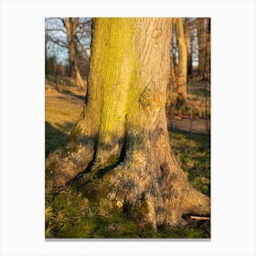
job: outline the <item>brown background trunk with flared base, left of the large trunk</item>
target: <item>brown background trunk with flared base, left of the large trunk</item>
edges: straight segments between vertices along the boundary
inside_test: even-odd
[[[69,45],[69,68],[70,68],[70,77],[71,81],[75,83],[78,88],[84,89],[85,82],[82,80],[80,76],[80,69],[78,66],[78,53],[76,47],[76,28],[78,26],[79,19],[77,17],[65,18],[65,27],[67,29],[67,36],[68,36],[68,45]]]

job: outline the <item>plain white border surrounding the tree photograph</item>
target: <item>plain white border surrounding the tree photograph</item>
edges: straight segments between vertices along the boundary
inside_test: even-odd
[[[212,239],[44,239],[44,17],[212,17]],[[2,1],[1,255],[255,255],[255,2]]]

